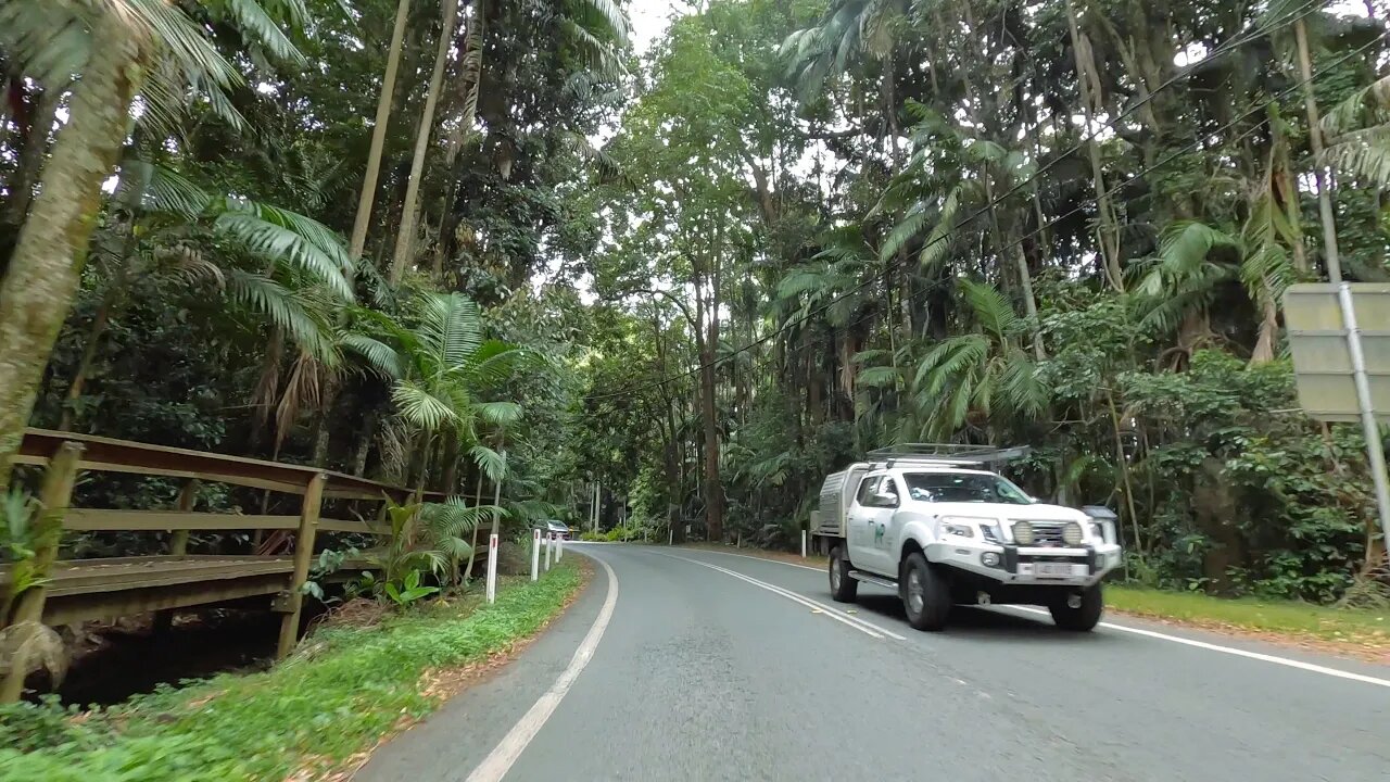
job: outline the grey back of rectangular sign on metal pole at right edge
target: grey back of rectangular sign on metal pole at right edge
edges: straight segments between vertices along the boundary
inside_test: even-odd
[[[1371,406],[1390,420],[1390,285],[1358,282],[1351,301],[1366,358]],[[1284,324],[1294,355],[1298,402],[1308,415],[1326,422],[1357,422],[1361,406],[1351,373],[1347,330],[1341,326],[1337,287],[1293,285],[1284,294]]]

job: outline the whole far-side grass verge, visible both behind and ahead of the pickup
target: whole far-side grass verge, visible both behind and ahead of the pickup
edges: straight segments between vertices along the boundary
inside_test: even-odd
[[[824,557],[787,551],[734,548],[713,543],[691,543],[684,548],[742,554],[808,566],[826,566]],[[1131,616],[1159,619],[1284,646],[1390,662],[1390,612],[1327,608],[1297,601],[1230,600],[1201,593],[1159,591],[1106,584],[1109,609]]]

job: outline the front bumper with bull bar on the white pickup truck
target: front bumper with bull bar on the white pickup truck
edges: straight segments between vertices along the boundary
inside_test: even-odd
[[[1113,543],[1041,548],[954,538],[929,544],[926,555],[927,562],[1001,584],[1087,587],[1119,568],[1122,552]]]

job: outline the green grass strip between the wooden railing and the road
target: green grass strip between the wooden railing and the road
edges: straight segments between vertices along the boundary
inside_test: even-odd
[[[439,705],[431,669],[503,651],[538,632],[581,584],[564,562],[538,583],[507,579],[493,605],[434,605],[375,628],[316,633],[268,672],[222,675],[72,718],[56,705],[0,710],[0,781],[285,779],[332,765],[402,719]]]

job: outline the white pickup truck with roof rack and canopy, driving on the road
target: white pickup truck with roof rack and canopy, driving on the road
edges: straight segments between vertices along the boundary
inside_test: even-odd
[[[1045,605],[1059,628],[1101,619],[1101,579],[1120,565],[1115,515],[1047,505],[980,469],[1027,448],[912,444],[826,479],[812,534],[830,555],[830,591],[859,583],[898,591],[919,630],[945,626],[956,604]]]

